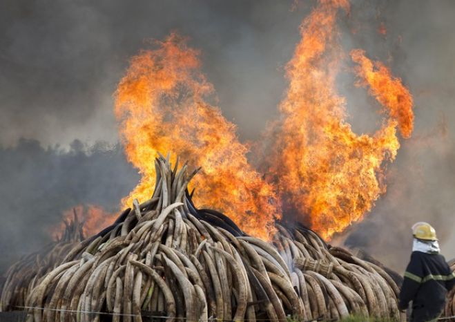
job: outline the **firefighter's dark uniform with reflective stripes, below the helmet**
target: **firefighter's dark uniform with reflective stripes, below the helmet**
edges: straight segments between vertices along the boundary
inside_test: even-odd
[[[436,319],[444,309],[445,296],[455,285],[455,275],[441,254],[412,252],[400,292],[400,310],[412,301],[412,322]]]

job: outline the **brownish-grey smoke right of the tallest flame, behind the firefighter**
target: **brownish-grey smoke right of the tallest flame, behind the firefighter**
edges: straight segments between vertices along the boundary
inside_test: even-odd
[[[455,37],[449,32],[448,19],[455,13],[455,6],[449,1],[440,4],[384,1],[377,10],[365,10],[365,3],[358,1],[352,12],[362,21],[359,28],[371,29],[355,35],[362,48],[388,57],[394,73],[409,86],[416,107],[413,138],[400,142],[396,162],[387,173],[387,193],[365,221],[349,231],[346,244],[366,249],[399,272],[409,260],[410,227],[417,221],[434,225],[443,254],[447,259],[455,256],[455,80],[449,54],[454,53]],[[368,37],[375,28],[368,21],[384,23],[387,35],[382,44]],[[349,85],[344,90],[358,98],[350,111],[354,128],[365,131],[374,126],[375,118],[361,111],[360,104],[368,103],[368,98]]]

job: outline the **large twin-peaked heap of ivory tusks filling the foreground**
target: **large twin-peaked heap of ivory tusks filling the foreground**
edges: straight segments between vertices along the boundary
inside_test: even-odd
[[[178,164],[178,160],[177,160]],[[150,200],[68,252],[27,299],[28,321],[397,321],[398,287],[378,265],[277,223],[270,242],[226,216],[196,209],[197,171],[155,160]]]

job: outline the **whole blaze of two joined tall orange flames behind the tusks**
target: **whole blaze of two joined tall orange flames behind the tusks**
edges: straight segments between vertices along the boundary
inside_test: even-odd
[[[336,28],[340,9],[349,11],[348,1],[321,0],[302,23],[302,40],[287,64],[282,117],[269,131],[267,176],[249,164],[235,125],[211,103],[213,86],[185,39],[172,34],[133,57],[117,88],[115,115],[142,180],[123,204],[151,197],[155,156],[169,151],[202,167],[193,180],[196,205],[220,209],[249,234],[269,238],[281,209],[325,238],[360,220],[385,192],[385,163],[400,146],[396,128],[403,138],[412,133],[413,103],[400,79],[353,50],[357,85],[368,86],[387,113],[373,135],[351,131],[345,98],[335,86],[344,56]]]

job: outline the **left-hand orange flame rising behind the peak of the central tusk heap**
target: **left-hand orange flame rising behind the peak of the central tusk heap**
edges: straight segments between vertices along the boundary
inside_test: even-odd
[[[142,180],[124,198],[151,198],[158,152],[202,167],[193,179],[198,207],[215,207],[255,236],[268,238],[280,216],[273,186],[246,160],[248,148],[213,100],[198,52],[173,34],[133,57],[116,92],[115,114],[128,160]],[[175,162],[175,159],[173,160]]]

